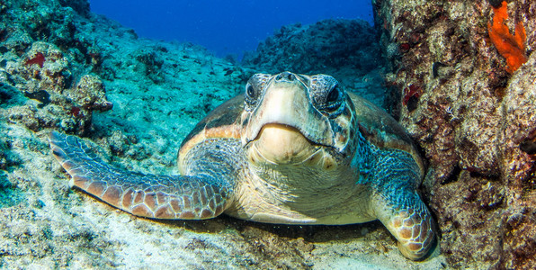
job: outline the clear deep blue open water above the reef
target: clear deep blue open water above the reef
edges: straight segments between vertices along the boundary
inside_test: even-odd
[[[329,18],[372,22],[370,0],[90,0],[104,14],[140,37],[189,41],[217,56],[240,56],[282,25]]]

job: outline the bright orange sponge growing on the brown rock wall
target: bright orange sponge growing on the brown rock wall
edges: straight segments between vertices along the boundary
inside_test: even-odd
[[[493,7],[493,24],[487,23],[489,38],[499,53],[506,58],[506,71],[514,73],[527,61],[525,41],[527,35],[523,22],[515,24],[514,34],[510,33],[505,20],[508,20],[507,3],[503,1],[500,7]]]

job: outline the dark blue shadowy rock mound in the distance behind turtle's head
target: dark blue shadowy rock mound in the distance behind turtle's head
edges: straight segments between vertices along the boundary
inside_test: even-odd
[[[379,106],[385,103],[385,60],[376,31],[362,20],[282,26],[255,51],[246,52],[242,63],[268,73],[329,74],[346,90]]]

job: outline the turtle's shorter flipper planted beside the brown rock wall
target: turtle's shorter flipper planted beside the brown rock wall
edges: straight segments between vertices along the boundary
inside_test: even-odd
[[[400,252],[412,260],[423,259],[435,245],[433,218],[416,193],[419,179],[415,162],[405,152],[383,150],[376,168],[376,191],[371,208],[398,240]],[[389,180],[388,180],[389,179]]]

